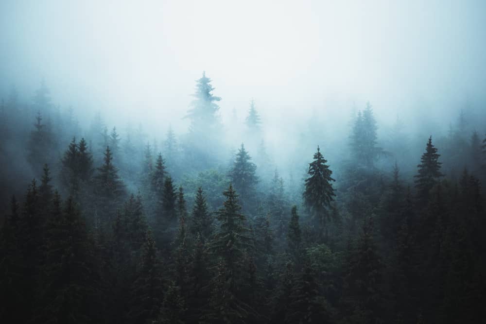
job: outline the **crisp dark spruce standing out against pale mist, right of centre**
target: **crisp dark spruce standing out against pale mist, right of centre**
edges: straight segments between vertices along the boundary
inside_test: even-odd
[[[305,180],[305,190],[302,196],[308,210],[322,229],[330,219],[327,208],[335,196],[334,188],[332,188],[330,182],[335,180],[331,178],[332,171],[326,164],[328,161],[321,154],[319,146],[317,146],[317,152],[313,158],[314,161],[309,163],[309,171],[307,172],[309,178]]]

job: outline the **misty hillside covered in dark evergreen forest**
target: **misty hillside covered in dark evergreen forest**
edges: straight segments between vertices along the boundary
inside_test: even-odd
[[[81,124],[45,81],[12,87],[1,322],[485,321],[481,108],[458,107],[446,134],[397,118],[385,138],[368,102],[332,143],[311,119],[283,157],[253,100],[228,147],[220,101],[203,73],[189,129],[155,138],[101,113]]]

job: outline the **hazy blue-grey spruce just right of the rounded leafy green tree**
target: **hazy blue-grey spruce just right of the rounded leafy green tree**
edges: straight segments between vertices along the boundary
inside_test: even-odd
[[[251,156],[244,149],[242,143],[241,148],[236,154],[233,168],[229,173],[232,184],[238,190],[241,196],[243,210],[249,211],[250,201],[255,196],[255,186],[258,183],[258,177],[255,174],[257,166],[250,162]]]

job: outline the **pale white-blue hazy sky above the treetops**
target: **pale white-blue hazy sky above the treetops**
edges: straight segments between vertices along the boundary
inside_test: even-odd
[[[311,116],[369,100],[395,116],[486,89],[486,1],[0,1],[0,93],[182,130],[206,70],[223,117]],[[452,103],[451,103],[452,102]]]

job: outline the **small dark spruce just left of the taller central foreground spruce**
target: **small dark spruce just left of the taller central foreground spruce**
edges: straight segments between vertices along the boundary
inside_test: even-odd
[[[212,235],[212,218],[201,187],[197,188],[196,199],[192,207],[190,231],[193,238],[199,236],[203,243]]]

